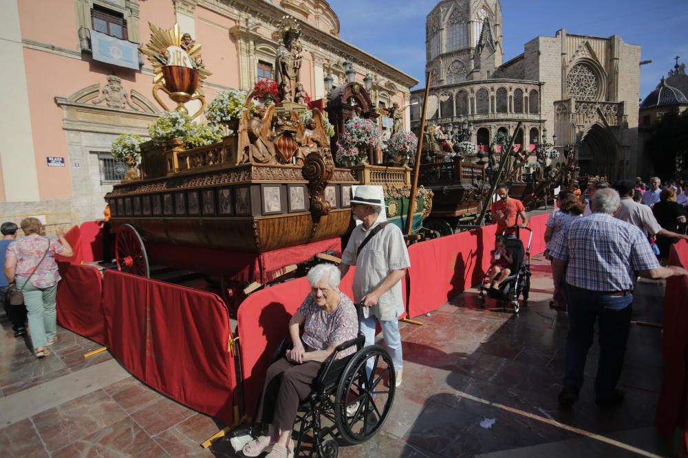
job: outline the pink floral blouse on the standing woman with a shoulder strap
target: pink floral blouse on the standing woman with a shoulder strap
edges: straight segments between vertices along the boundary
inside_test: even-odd
[[[39,270],[31,277],[30,282],[36,288],[49,288],[60,281],[61,277],[57,271],[55,255],[65,251],[63,244],[47,237],[27,236],[10,244],[6,253],[6,257],[17,259],[17,267],[14,271],[17,278],[14,279],[14,282],[18,288],[24,286],[27,277],[31,275],[41,261],[43,253],[48,248],[48,242],[50,242],[50,249],[41,262]]]

